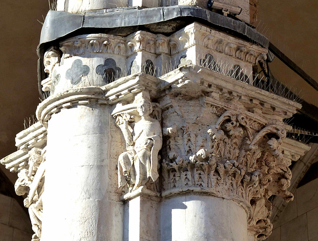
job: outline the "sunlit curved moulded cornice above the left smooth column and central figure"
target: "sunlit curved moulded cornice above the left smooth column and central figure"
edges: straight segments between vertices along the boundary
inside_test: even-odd
[[[39,104],[36,110],[38,120],[47,127],[53,114],[78,105],[112,105],[118,101],[133,99],[143,90],[154,98],[157,96],[158,78],[138,73],[123,77],[101,87],[79,87],[57,93]]]

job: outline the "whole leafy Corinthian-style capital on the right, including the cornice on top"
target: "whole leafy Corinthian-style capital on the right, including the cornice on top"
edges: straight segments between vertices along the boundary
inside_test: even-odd
[[[272,230],[269,198],[293,199],[287,190],[292,177],[288,166],[304,147],[296,150],[286,139],[282,119],[295,113],[298,104],[266,100],[265,92],[247,86],[240,91],[201,70],[181,68],[174,80],[169,75],[172,88],[159,101],[162,196],[198,192],[233,200],[248,215],[249,234],[264,240]]]

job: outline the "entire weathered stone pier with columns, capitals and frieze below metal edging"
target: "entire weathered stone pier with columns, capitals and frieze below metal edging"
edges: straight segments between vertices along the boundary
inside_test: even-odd
[[[196,22],[50,48],[52,95],[1,160],[28,194],[33,240],[268,237],[269,198],[293,199],[288,166],[308,148],[283,123],[301,105],[252,85],[266,53]]]

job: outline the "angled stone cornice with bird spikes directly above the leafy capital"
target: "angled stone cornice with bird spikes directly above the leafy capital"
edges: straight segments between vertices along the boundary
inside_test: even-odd
[[[181,91],[188,86],[196,86],[198,93],[205,91],[209,97],[217,99],[221,96],[236,98],[247,110],[262,110],[263,115],[276,116],[280,120],[290,118],[302,107],[299,103],[196,65],[180,67],[160,79],[162,91]]]

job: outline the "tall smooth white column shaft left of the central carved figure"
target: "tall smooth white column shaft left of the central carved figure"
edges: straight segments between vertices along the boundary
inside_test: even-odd
[[[82,100],[48,121],[41,241],[121,240],[123,207],[111,187],[109,109]]]

